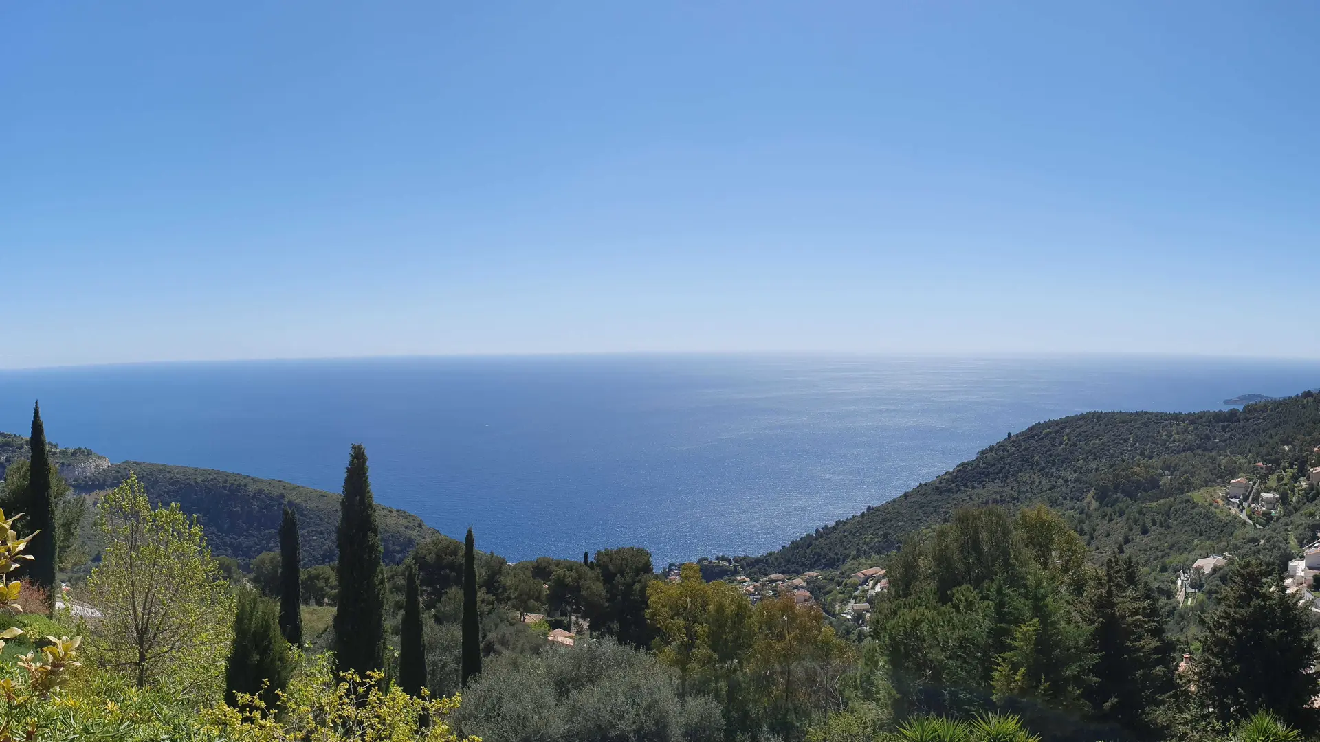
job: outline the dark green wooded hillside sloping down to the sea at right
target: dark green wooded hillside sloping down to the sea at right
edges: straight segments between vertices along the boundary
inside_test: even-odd
[[[1064,511],[1101,545],[1137,541],[1133,548],[1150,552],[1150,561],[1162,549],[1213,548],[1253,529],[1213,512],[1193,492],[1226,485],[1258,461],[1292,470],[1315,463],[1316,445],[1320,397],[1311,392],[1241,412],[1090,412],[1051,420],[891,502],[743,564],[759,573],[834,568],[891,552],[906,533],[941,523],[961,506],[1031,502]],[[1307,539],[1315,508],[1303,504],[1294,503],[1271,532]]]

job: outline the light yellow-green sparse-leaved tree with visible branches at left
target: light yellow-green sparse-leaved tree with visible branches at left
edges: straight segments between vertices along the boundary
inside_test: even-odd
[[[202,527],[177,504],[152,508],[136,477],[100,499],[96,522],[106,549],[87,589],[104,614],[92,627],[99,663],[137,688],[207,691],[222,673],[234,597]]]

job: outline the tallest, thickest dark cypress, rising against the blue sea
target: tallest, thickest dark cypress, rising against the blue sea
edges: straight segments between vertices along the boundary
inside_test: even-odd
[[[352,445],[339,503],[339,601],[334,651],[339,672],[366,675],[384,668],[385,580],[380,528],[367,479],[367,450]]]

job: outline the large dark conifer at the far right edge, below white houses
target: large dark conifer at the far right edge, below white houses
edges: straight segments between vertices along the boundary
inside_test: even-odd
[[[1205,618],[1195,663],[1197,697],[1224,724],[1269,710],[1313,729],[1317,661],[1307,609],[1283,589],[1278,573],[1257,560],[1232,564],[1218,606]]]

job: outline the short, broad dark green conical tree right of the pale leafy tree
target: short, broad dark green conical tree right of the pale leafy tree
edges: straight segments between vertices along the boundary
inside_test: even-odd
[[[224,702],[239,705],[240,694],[275,708],[277,693],[293,675],[293,654],[280,634],[279,607],[252,588],[239,589],[234,615],[234,644],[224,669]]]

